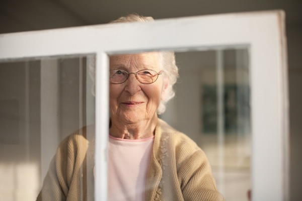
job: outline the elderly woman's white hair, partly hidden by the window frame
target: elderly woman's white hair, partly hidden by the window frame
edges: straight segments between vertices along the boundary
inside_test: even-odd
[[[124,17],[120,17],[117,20],[111,21],[109,23],[128,23],[128,22],[150,22],[154,21],[152,17],[143,17],[139,16],[137,14],[129,14]],[[167,87],[167,92],[164,97],[164,99],[161,100],[160,105],[157,109],[157,114],[163,114],[166,110],[166,104],[168,101],[175,96],[175,91],[173,89],[173,85],[176,83],[177,78],[179,76],[178,74],[178,67],[176,65],[175,61],[175,54],[174,52],[164,52],[160,51],[159,52],[159,61],[161,68],[163,70],[163,76],[166,78],[164,79],[164,84],[168,79],[168,87]],[[88,60],[91,60],[92,58],[88,58]],[[90,76],[92,77],[93,82],[95,83],[95,67],[94,65],[91,65],[92,63],[88,62],[88,67],[90,71]],[[93,94],[95,94],[95,85],[93,86]]]

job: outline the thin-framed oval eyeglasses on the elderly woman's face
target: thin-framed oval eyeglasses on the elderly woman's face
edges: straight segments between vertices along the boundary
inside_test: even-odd
[[[143,69],[137,72],[127,72],[125,70],[118,69],[118,70],[110,70],[109,72],[110,72],[109,81],[113,84],[124,83],[128,79],[129,74],[135,74],[137,81],[139,81],[142,84],[151,84],[158,79],[159,75],[162,74],[162,72],[158,73],[150,69]]]

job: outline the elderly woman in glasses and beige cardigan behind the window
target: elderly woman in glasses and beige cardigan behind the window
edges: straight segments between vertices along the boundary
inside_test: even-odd
[[[114,23],[151,20],[132,14]],[[158,118],[177,77],[173,52],[110,57],[109,200],[224,200],[204,152]],[[87,130],[60,144],[37,200],[93,200]]]

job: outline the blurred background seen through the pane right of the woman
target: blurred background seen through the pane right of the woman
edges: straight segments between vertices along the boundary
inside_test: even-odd
[[[225,200],[248,200],[251,120],[247,49],[176,53],[176,96],[161,116],[206,153]]]

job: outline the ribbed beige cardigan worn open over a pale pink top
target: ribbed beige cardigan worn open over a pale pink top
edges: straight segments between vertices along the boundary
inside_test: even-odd
[[[84,128],[61,142],[37,200],[94,200],[93,130]],[[147,201],[224,200],[204,152],[160,119],[146,189]]]

